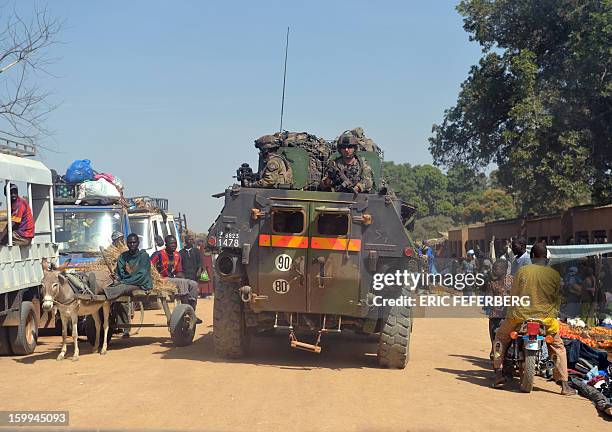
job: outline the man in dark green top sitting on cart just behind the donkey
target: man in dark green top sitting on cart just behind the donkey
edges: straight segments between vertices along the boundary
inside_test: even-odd
[[[137,289],[149,291],[153,288],[149,254],[144,250],[139,250],[139,245],[140,241],[136,234],[128,235],[128,250],[119,255],[117,260],[116,281],[111,286],[104,288],[104,293],[109,300],[129,295]]]

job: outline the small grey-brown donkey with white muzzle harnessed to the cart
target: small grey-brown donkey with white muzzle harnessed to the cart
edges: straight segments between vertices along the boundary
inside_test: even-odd
[[[110,312],[110,302],[108,300],[99,299],[83,299],[72,290],[67,277],[66,269],[62,267],[49,269],[47,263],[43,262],[43,301],[42,308],[44,311],[50,311],[53,307],[57,307],[62,321],[62,350],[57,356],[57,360],[63,360],[66,356],[66,333],[68,327],[68,318],[72,323],[72,339],[74,340],[74,355],[73,361],[79,359],[79,342],[77,323],[80,316],[91,315],[96,326],[96,343],[93,347],[93,352],[98,350],[100,343],[100,317],[98,311],[102,308],[104,319],[104,341],[100,354],[106,354],[107,338],[108,338],[108,315]],[[95,287],[93,287],[95,289]],[[99,297],[99,296],[98,296]]]

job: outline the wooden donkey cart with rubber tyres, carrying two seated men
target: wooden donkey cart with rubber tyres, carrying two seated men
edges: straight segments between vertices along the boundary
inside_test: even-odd
[[[178,300],[178,303],[176,300]],[[170,294],[159,291],[155,288],[150,291],[135,290],[132,291],[131,295],[129,296],[126,295],[113,300],[109,315],[109,342],[112,334],[120,333],[125,329],[136,329],[134,333],[130,333],[130,335],[135,335],[142,327],[167,327],[174,345],[179,347],[191,345],[195,336],[195,311],[191,305],[181,303],[181,300],[184,300],[183,296],[181,295]],[[144,323],[143,305],[147,302],[157,301],[159,301],[162,305],[162,310],[166,315],[166,323]],[[172,310],[170,310],[170,302],[175,303]],[[134,314],[133,306],[135,304],[140,305],[140,323],[132,324],[131,319]],[[88,316],[85,319],[84,326],[87,341],[94,346],[96,340],[96,329],[94,320],[91,316]]]

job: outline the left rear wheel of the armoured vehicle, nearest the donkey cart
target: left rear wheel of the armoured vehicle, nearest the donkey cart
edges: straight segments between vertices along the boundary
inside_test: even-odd
[[[219,280],[213,307],[213,341],[217,355],[240,358],[248,352],[250,337],[246,331],[243,303],[237,284]]]

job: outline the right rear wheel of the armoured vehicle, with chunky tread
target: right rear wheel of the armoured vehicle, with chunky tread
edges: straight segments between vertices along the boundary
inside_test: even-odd
[[[411,309],[393,306],[383,318],[378,342],[378,365],[391,369],[404,369],[410,356]]]

